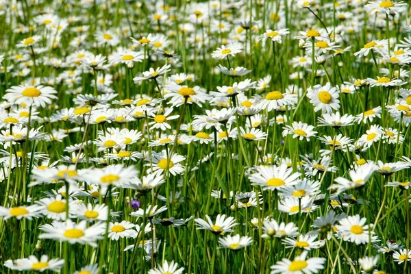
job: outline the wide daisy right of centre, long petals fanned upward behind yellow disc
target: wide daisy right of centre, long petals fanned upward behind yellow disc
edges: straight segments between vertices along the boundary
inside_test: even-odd
[[[286,164],[281,166],[258,166],[257,173],[249,176],[253,186],[262,186],[263,190],[281,190],[297,184],[300,173],[292,173]]]

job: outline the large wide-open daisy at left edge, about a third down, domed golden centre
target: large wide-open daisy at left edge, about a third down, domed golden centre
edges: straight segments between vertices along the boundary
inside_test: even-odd
[[[3,98],[17,105],[24,103],[44,108],[51,103],[51,99],[57,99],[57,91],[49,86],[12,86],[5,92]]]

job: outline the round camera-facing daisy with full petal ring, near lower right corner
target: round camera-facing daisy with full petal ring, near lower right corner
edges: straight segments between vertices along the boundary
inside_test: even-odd
[[[338,232],[343,236],[343,240],[354,242],[356,245],[362,245],[369,242],[369,234],[373,236],[374,232],[369,232],[369,225],[366,225],[366,219],[360,215],[347,216],[340,220]]]

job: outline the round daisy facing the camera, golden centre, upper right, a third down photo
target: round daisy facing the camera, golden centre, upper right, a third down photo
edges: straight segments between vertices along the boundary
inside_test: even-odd
[[[323,112],[330,113],[332,110],[338,110],[340,108],[340,101],[338,97],[337,88],[331,86],[327,83],[325,86],[316,85],[314,88],[308,88],[307,97],[310,98],[310,103],[314,105],[314,111],[318,112],[322,110]]]

